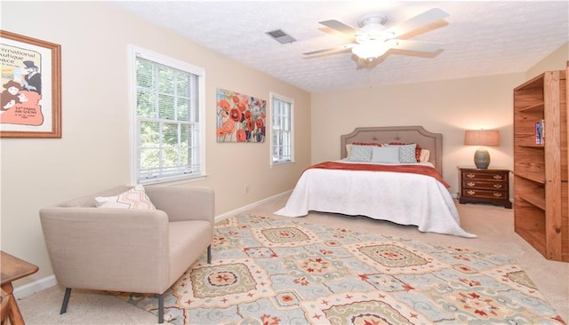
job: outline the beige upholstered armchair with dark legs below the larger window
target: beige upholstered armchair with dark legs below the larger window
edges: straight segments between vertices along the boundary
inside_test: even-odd
[[[66,289],[158,295],[164,322],[164,291],[207,250],[211,263],[214,194],[203,187],[147,186],[156,210],[97,208],[95,197],[121,194],[120,186],[40,210],[53,272]]]

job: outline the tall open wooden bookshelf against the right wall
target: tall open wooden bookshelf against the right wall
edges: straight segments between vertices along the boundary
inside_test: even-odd
[[[569,262],[566,75],[569,62],[514,89],[514,227],[545,258]]]

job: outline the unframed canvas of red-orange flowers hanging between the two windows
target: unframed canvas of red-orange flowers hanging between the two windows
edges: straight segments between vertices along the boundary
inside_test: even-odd
[[[267,100],[217,90],[217,141],[264,142]]]

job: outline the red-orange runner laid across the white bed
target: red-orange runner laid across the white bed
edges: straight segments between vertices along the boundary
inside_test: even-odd
[[[416,166],[416,165],[377,165],[368,163],[337,163],[337,162],[325,162],[317,163],[310,166],[307,170],[311,168],[323,169],[323,170],[367,170],[367,171],[393,171],[393,172],[407,172],[413,174],[427,175],[432,178],[437,179],[446,188],[451,187],[446,183],[445,179],[441,176],[438,170],[430,166]]]

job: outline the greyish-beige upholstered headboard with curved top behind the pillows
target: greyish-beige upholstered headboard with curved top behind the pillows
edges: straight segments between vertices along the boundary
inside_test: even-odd
[[[429,162],[443,175],[443,134],[429,132],[420,125],[356,128],[351,133],[342,135],[340,139],[341,158],[348,156],[346,145],[353,142],[417,143],[421,148],[430,151]]]

